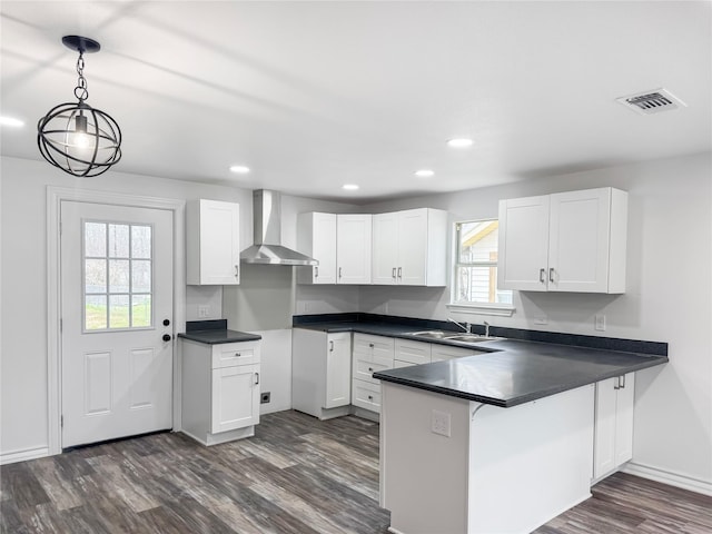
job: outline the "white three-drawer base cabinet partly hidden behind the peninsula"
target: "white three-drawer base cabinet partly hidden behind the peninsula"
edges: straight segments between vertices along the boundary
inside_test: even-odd
[[[380,380],[372,375],[394,367],[393,337],[354,334],[352,404],[380,413]]]

